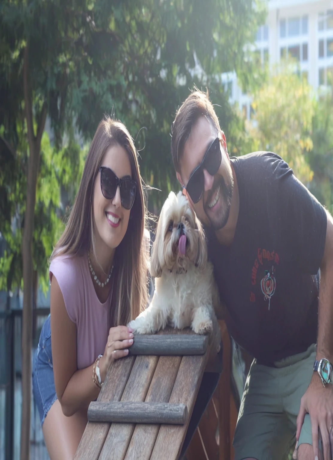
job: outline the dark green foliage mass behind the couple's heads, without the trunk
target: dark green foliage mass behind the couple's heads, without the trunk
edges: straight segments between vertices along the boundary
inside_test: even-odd
[[[244,123],[230,107],[219,75],[235,70],[244,89],[262,78],[247,43],[264,22],[263,5],[260,0],[0,3],[0,231],[7,242],[2,285],[22,284],[26,47],[35,132],[47,104],[51,135],[50,141],[44,133],[41,142],[33,243],[34,269],[46,286],[47,259],[73,204],[86,155],[74,132],[90,142],[104,114],[123,121],[136,139],[145,182],[162,190],[150,193],[155,211],[169,190],[178,188],[170,127],[189,88],[208,87],[230,152],[247,148]]]

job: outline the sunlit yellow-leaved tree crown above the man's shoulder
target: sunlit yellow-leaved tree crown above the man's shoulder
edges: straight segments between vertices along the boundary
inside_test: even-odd
[[[307,154],[311,139],[315,98],[310,85],[290,67],[282,67],[255,94],[254,121],[250,129],[257,150],[280,155],[306,185],[313,178]]]

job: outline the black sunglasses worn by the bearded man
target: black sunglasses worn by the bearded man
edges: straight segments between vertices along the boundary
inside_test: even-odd
[[[193,203],[200,201],[205,189],[205,176],[203,170],[206,169],[208,173],[213,176],[218,172],[218,168],[221,166],[222,155],[220,147],[220,139],[217,137],[208,147],[200,165],[195,168],[193,173],[189,176],[186,191]]]

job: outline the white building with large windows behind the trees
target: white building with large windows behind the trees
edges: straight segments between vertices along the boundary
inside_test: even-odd
[[[262,63],[294,57],[315,89],[333,86],[333,0],[269,0],[256,47]],[[242,93],[235,74],[225,74],[224,81],[230,102],[237,101],[249,118],[251,96]]]

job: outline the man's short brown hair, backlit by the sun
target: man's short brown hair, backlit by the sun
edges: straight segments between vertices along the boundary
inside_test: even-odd
[[[208,90],[203,92],[195,89],[177,110],[175,120],[172,123],[171,155],[177,173],[180,173],[180,161],[192,127],[201,116],[205,116],[217,132],[220,132],[218,117],[209,100]]]

